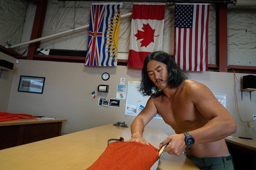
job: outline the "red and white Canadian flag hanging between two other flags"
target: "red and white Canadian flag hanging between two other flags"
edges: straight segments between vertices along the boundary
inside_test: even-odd
[[[134,3],[128,67],[142,68],[146,56],[162,50],[165,3]]]

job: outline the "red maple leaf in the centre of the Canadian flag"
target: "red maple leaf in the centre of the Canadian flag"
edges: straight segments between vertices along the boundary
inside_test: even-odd
[[[137,37],[137,40],[143,39],[140,41],[140,47],[147,47],[151,42],[154,43],[154,37],[159,36],[154,35],[155,30],[153,30],[149,24],[143,24],[142,30],[144,31],[138,30],[138,33],[134,35],[135,37]]]

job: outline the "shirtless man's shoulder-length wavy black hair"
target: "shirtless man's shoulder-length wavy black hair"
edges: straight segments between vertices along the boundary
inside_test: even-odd
[[[189,75],[184,70],[181,70],[181,68],[176,64],[176,62],[173,60],[173,57],[169,54],[163,52],[163,51],[156,51],[154,53],[148,54],[144,60],[142,72],[141,72],[141,78],[140,78],[140,85],[139,85],[139,91],[145,96],[145,95],[153,95],[157,93],[154,97],[158,97],[162,95],[161,89],[157,88],[157,86],[150,80],[148,77],[147,72],[147,64],[150,60],[157,60],[167,65],[167,71],[168,71],[168,79],[166,80],[168,82],[168,85],[171,88],[176,88],[178,85],[180,85],[184,80],[188,79]]]

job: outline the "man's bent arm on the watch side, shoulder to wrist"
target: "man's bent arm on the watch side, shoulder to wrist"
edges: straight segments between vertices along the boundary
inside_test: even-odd
[[[221,140],[236,132],[236,122],[227,109],[217,100],[211,90],[203,84],[192,83],[192,102],[197,110],[209,120],[203,127],[189,132],[195,144]]]

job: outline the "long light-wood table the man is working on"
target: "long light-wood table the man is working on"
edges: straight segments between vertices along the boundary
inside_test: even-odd
[[[19,170],[85,170],[107,147],[111,138],[131,138],[130,126],[112,124],[86,129],[47,140],[0,150],[0,169]],[[161,129],[145,128],[143,137],[158,148],[167,135]],[[36,168],[37,169],[37,168]],[[158,170],[197,170],[197,166],[184,154],[163,153]]]

